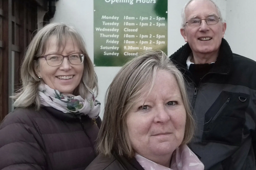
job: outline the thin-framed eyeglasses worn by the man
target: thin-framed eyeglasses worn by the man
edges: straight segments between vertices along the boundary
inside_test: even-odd
[[[219,22],[219,19],[220,19],[220,17],[218,17],[216,15],[212,15],[205,19],[191,18],[186,23],[189,27],[199,27],[201,25],[202,20],[205,20],[207,25],[216,25]],[[186,23],[185,23],[185,25],[186,25]]]

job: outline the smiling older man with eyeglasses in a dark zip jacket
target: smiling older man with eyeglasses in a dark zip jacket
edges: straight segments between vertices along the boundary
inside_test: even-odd
[[[189,147],[207,170],[256,169],[256,62],[232,53],[211,0],[190,0],[182,20],[187,43],[170,60],[184,74],[197,123]]]

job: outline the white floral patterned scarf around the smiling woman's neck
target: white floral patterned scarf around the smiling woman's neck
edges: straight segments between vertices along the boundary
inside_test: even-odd
[[[63,113],[88,115],[90,118],[99,116],[100,103],[95,100],[92,93],[89,93],[84,100],[80,95],[61,93],[44,83],[41,83],[38,88],[41,105],[53,107]]]

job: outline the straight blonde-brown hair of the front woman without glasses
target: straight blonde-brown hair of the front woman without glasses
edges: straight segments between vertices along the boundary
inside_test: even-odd
[[[185,134],[182,144],[193,137],[195,122],[187,101],[181,72],[162,52],[145,52],[126,63],[118,72],[106,94],[105,110],[98,136],[98,152],[133,157],[134,151],[127,132],[127,113],[143,93],[150,93],[158,70],[166,70],[175,77],[186,110]]]

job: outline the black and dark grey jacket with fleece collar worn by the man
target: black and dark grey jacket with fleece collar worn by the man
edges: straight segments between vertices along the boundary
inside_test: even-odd
[[[206,170],[256,169],[256,62],[233,54],[222,39],[216,63],[196,85],[186,68],[190,53],[186,43],[170,56],[184,74],[197,123],[189,147]]]

